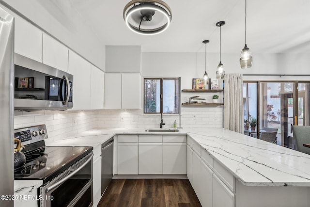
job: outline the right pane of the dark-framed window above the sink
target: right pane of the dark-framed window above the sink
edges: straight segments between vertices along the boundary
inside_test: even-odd
[[[179,113],[179,80],[163,80],[163,113]]]

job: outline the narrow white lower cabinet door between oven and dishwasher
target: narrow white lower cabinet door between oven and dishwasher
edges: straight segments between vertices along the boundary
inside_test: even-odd
[[[101,156],[93,161],[93,206],[97,206],[101,198]]]

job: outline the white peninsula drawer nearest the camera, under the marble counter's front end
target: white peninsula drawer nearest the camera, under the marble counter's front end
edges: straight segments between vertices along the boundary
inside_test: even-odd
[[[225,183],[225,185],[234,191],[234,177],[226,168],[224,168],[218,161],[213,161],[214,173]]]

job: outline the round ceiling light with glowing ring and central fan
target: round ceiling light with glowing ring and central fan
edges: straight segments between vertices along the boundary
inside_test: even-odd
[[[123,13],[127,27],[145,35],[164,32],[172,19],[171,9],[162,0],[132,0]]]

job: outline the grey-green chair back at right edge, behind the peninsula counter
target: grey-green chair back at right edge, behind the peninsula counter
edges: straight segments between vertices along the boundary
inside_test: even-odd
[[[292,126],[293,137],[295,140],[295,150],[310,154],[310,148],[303,143],[310,143],[310,126]]]

